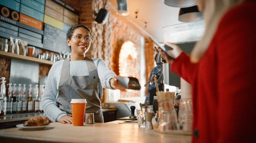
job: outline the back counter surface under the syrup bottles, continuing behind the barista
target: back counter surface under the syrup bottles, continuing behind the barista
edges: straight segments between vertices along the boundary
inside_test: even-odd
[[[116,111],[116,108],[102,109],[102,112]],[[23,121],[28,120],[35,116],[45,116],[44,112],[41,113],[17,113],[17,114],[6,114],[5,116],[0,116],[0,123],[13,122],[13,121]]]

